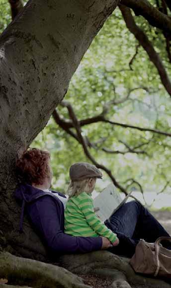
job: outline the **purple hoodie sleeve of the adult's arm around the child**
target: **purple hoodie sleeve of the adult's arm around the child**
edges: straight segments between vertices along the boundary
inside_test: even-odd
[[[63,232],[60,221],[61,210],[55,202],[51,197],[45,196],[27,208],[32,223],[43,236],[47,246],[60,253],[100,250],[101,237],[75,237]]]

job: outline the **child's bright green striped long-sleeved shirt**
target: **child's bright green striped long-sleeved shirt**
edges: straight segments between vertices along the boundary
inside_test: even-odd
[[[111,243],[116,234],[108,229],[95,215],[90,194],[85,192],[68,200],[65,209],[65,233],[73,236],[104,236]]]

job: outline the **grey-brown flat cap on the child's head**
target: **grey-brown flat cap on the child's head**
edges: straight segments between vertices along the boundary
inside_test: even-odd
[[[70,178],[72,181],[85,180],[91,177],[102,178],[100,170],[92,164],[78,162],[70,167]]]

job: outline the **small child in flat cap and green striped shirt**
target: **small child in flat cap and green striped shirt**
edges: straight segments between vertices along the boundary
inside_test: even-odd
[[[118,245],[116,234],[99,220],[93,209],[91,193],[96,178],[102,178],[101,172],[94,165],[80,162],[70,167],[70,178],[69,200],[65,209],[65,233],[84,237],[100,235],[108,238],[113,246]]]

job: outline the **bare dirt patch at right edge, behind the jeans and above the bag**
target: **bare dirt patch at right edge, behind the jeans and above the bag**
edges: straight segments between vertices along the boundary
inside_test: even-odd
[[[151,213],[171,235],[171,211],[151,211]]]

